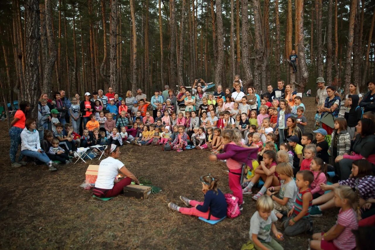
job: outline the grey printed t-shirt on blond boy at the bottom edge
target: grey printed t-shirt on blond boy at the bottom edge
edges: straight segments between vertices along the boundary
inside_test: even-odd
[[[271,211],[270,216],[267,218],[267,220],[264,220],[260,217],[259,212],[256,211],[250,220],[250,239],[252,239],[252,235],[257,234],[258,239],[264,242],[270,242],[271,241],[271,226],[272,223],[277,221],[278,217],[276,217],[275,213]]]

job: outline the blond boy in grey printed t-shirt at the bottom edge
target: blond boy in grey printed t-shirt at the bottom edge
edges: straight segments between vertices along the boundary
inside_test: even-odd
[[[274,203],[269,196],[261,196],[256,203],[257,211],[252,215],[250,220],[250,240],[254,243],[257,250],[260,249],[284,249],[275,239],[270,235],[272,230],[276,238],[283,240],[284,237],[281,232],[278,232],[275,222],[278,220],[274,209]]]

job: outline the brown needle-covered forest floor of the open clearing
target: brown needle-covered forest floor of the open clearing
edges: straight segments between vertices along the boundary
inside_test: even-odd
[[[314,124],[314,98],[304,98],[308,128]],[[6,123],[0,122],[1,131]],[[219,188],[230,193],[225,163],[208,161],[207,151],[163,152],[161,147],[125,145],[120,159],[141,180],[162,188],[141,200],[117,196],[110,201],[92,197],[79,187],[88,164],[11,168],[9,137],[0,136],[5,153],[0,175],[0,248],[18,249],[240,249],[249,239],[250,218],[255,212],[251,196],[244,196],[242,214],[212,226],[198,218],[171,211],[168,202],[183,205],[178,196],[203,200],[199,176],[218,176]],[[156,157],[157,156],[157,157]],[[328,230],[337,209],[315,217],[314,232]],[[281,232],[281,223],[276,226]],[[306,249],[311,235],[285,236],[285,249]]]

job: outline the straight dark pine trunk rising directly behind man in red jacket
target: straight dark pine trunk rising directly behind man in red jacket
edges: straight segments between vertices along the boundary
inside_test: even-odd
[[[110,15],[110,86],[118,91],[117,81],[117,0],[111,0]]]

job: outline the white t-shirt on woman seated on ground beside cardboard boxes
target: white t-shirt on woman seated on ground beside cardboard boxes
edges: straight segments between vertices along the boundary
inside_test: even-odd
[[[118,175],[118,170],[123,167],[124,164],[112,157],[105,158],[99,164],[98,178],[95,182],[96,188],[112,189],[113,181]]]

